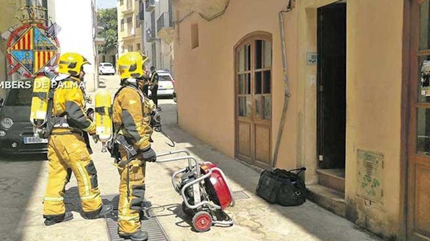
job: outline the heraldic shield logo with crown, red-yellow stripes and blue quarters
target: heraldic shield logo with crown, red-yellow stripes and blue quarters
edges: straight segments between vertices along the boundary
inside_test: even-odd
[[[18,19],[22,25],[11,32],[7,42],[9,75],[36,77],[45,67],[57,66],[60,44],[56,38],[58,25],[46,26],[46,9],[41,6],[24,6]]]

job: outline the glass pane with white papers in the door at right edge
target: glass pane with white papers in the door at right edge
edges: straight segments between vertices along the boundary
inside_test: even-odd
[[[419,57],[418,102],[430,103],[430,56]]]

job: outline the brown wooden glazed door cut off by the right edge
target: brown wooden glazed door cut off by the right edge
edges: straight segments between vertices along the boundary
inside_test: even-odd
[[[407,233],[430,241],[430,0],[410,2]]]

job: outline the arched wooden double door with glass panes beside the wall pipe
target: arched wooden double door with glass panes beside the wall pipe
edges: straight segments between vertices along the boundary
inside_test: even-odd
[[[235,48],[236,158],[272,167],[272,37],[256,33]]]

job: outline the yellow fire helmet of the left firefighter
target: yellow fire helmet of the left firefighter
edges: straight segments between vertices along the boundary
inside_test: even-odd
[[[65,53],[60,56],[59,74],[79,75],[81,68],[85,64],[90,64],[86,58],[77,53]]]

